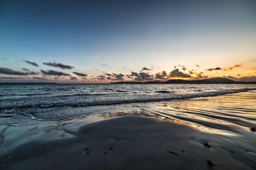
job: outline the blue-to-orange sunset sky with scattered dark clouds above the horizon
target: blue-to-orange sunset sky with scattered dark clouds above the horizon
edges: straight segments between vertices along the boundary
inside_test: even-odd
[[[256,81],[255,0],[1,0],[0,83]]]

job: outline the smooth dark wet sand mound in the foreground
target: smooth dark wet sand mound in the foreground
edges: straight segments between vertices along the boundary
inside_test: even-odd
[[[228,148],[225,142],[219,147],[211,142],[214,134],[168,119],[106,114],[100,118],[41,121],[36,125],[6,126],[0,130],[0,169],[256,168],[254,160],[240,159],[243,154],[255,157],[255,153],[241,147]],[[203,142],[209,142],[210,147]]]

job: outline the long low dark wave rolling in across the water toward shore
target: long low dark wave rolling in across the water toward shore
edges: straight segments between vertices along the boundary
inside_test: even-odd
[[[29,107],[40,107],[40,108],[50,108],[50,107],[86,107],[86,106],[97,106],[97,105],[116,105],[116,104],[128,104],[128,103],[141,103],[141,102],[159,102],[159,101],[168,101],[168,100],[189,100],[191,98],[200,98],[200,97],[210,97],[210,96],[220,96],[225,94],[233,94],[233,93],[239,93],[239,92],[247,92],[250,90],[256,90],[256,88],[251,89],[231,89],[231,90],[225,90],[225,91],[219,91],[219,92],[204,92],[201,94],[184,94],[184,95],[168,95],[164,97],[155,97],[155,96],[147,96],[147,98],[133,98],[133,99],[126,99],[126,100],[91,100],[91,101],[67,101],[67,102],[58,102],[58,100],[55,100],[56,102],[38,102],[38,103],[27,103],[27,104],[17,104],[17,105],[5,105],[0,106],[0,110],[4,109],[19,109],[19,108],[29,108]],[[71,96],[76,95],[87,95],[87,94],[72,94]],[[88,95],[95,95],[95,94],[88,94]],[[103,94],[97,94],[97,95],[103,95]],[[65,97],[69,95],[62,95],[59,97]]]

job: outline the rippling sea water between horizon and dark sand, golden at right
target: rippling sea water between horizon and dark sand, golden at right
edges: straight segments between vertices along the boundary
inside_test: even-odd
[[[0,125],[155,114],[213,130],[256,126],[255,84],[0,84]],[[225,126],[225,128],[224,128]]]

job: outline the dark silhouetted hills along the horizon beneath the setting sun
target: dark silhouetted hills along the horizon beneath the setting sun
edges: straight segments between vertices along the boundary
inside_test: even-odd
[[[180,83],[186,83],[186,84],[234,84],[234,83],[241,83],[241,84],[247,84],[247,83],[256,83],[256,82],[241,82],[241,81],[234,81],[230,80],[228,78],[222,78],[222,77],[216,77],[216,78],[207,78],[204,80],[182,80],[182,79],[172,79],[165,82],[162,81],[147,81],[146,84],[149,83],[166,83],[166,84],[180,84]],[[121,81],[121,82],[114,82],[112,84],[142,84],[142,82],[135,82],[135,81]]]

